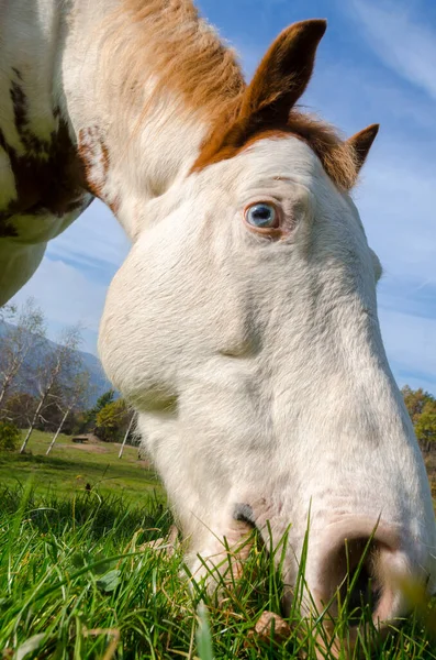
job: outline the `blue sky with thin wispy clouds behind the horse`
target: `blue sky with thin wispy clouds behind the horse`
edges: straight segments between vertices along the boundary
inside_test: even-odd
[[[354,191],[383,265],[379,318],[400,386],[436,395],[436,2],[434,0],[200,0],[200,11],[239,53],[247,78],[278,33],[310,18],[328,21],[303,106],[350,135],[380,133]],[[97,353],[109,283],[128,241],[98,200],[49,243],[32,280],[51,338],[86,327]]]

